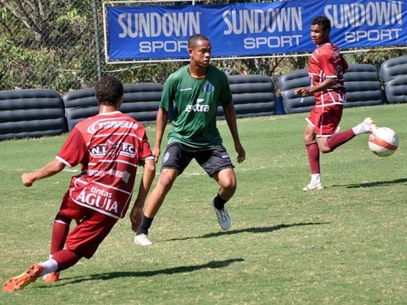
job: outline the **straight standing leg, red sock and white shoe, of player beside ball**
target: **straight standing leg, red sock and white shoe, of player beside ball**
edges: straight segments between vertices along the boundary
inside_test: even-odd
[[[319,148],[318,143],[316,143],[315,133],[316,128],[312,120],[312,116],[308,118],[307,127],[305,127],[303,139],[305,143],[305,148],[307,149],[309,170],[311,171],[311,181],[306,185],[303,190],[309,191],[312,189],[322,189],[321,183],[321,169],[319,163]]]

